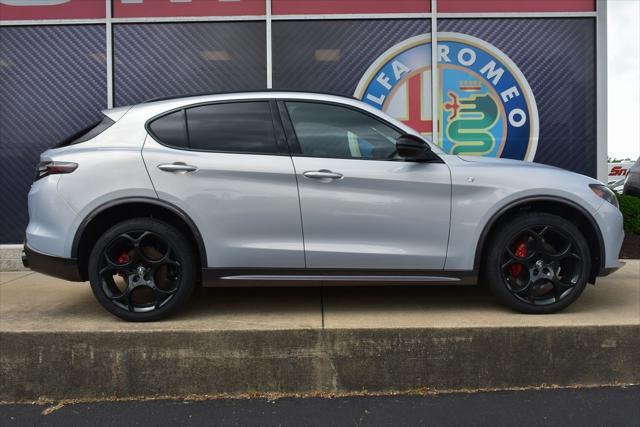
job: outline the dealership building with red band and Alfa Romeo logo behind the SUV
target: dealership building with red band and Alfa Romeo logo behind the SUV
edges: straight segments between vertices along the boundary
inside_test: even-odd
[[[0,0],[0,245],[23,240],[39,154],[101,110],[267,88],[606,180],[604,0]]]

